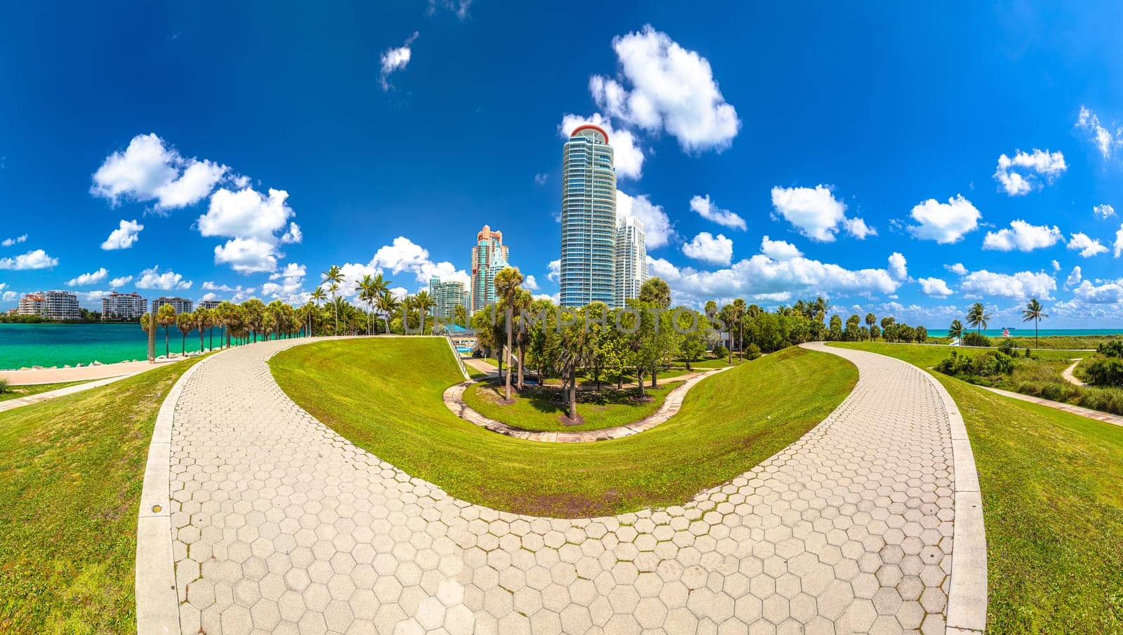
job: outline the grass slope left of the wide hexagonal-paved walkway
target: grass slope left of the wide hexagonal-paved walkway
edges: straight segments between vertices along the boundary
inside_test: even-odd
[[[0,633],[136,631],[148,442],[197,361],[0,413]]]

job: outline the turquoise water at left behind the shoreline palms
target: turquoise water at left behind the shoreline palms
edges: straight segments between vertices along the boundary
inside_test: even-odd
[[[221,329],[213,329],[214,346]],[[210,346],[204,333],[204,346]],[[180,330],[172,328],[167,341],[180,352]],[[148,335],[139,324],[0,324],[0,368],[25,366],[77,366],[146,359]],[[188,333],[188,351],[199,350],[199,332]],[[164,355],[164,329],[156,332],[156,355]]]

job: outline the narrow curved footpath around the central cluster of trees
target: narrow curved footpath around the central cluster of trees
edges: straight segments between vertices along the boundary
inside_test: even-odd
[[[592,441],[609,441],[611,439],[631,436],[632,434],[651,430],[660,423],[665,423],[668,418],[675,416],[678,413],[678,409],[683,407],[683,399],[686,398],[686,393],[688,393],[691,388],[693,388],[702,379],[705,379],[715,372],[721,372],[722,370],[725,370],[725,368],[718,368],[715,370],[707,370],[704,372],[694,372],[685,377],[675,377],[672,379],[673,381],[683,379],[685,379],[685,381],[683,381],[681,386],[673,389],[654,413],[639,421],[626,423],[624,425],[605,427],[602,430],[587,430],[584,432],[538,432],[533,430],[522,430],[521,427],[514,427],[501,421],[489,418],[464,403],[464,392],[474,386],[476,384],[475,381],[453,384],[445,390],[444,398],[445,406],[456,416],[468,423],[478,425],[480,427],[497,432],[499,434],[546,443],[587,443]]]

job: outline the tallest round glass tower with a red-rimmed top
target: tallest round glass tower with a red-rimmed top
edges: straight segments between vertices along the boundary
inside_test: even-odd
[[[617,171],[604,129],[578,126],[562,151],[562,306],[617,306]]]

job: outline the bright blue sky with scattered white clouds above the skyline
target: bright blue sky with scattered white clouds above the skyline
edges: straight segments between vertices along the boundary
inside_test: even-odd
[[[1123,325],[1117,3],[314,4],[2,9],[0,309],[412,293],[484,223],[554,294],[595,120],[682,302]]]

